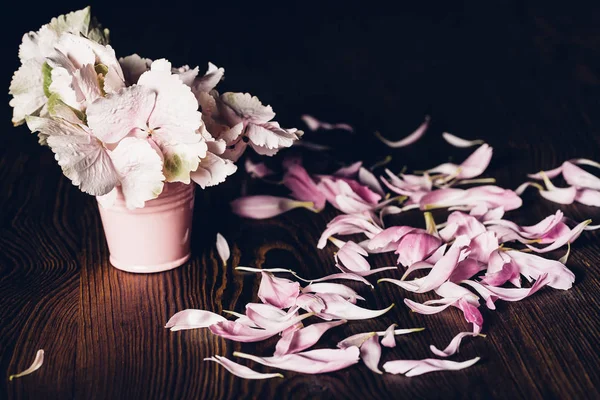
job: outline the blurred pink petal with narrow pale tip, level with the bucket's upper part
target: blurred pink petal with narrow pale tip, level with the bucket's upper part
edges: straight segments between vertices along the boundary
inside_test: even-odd
[[[308,208],[314,211],[314,204],[309,201],[297,201],[285,197],[246,196],[232,201],[231,208],[240,217],[266,219],[294,208]]]

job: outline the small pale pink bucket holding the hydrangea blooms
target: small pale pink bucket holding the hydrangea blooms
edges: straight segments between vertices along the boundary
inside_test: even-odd
[[[115,204],[98,204],[110,263],[123,271],[152,273],[177,268],[190,258],[195,185],[166,183],[144,208],[130,210],[119,192]]]

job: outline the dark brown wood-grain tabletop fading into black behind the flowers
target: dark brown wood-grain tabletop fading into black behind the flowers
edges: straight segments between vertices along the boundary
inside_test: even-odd
[[[415,146],[392,153],[394,169],[420,169],[450,155],[462,159],[466,152],[441,141],[443,131],[492,144],[489,175],[506,187],[571,157],[600,158],[598,7],[514,2],[392,10],[361,2],[275,10],[253,2],[200,3],[102,2],[94,13],[111,28],[120,55],[137,51],[201,67],[210,60],[226,68],[221,90],[258,95],[286,126],[301,127],[303,113],[355,125],[354,136],[307,134],[334,144],[341,160],[382,158],[390,152],[372,132],[404,136],[425,114],[433,118],[431,130]],[[23,32],[84,5],[23,1],[3,11],[2,85],[8,87],[18,65]],[[573,246],[568,266],[577,278],[571,290],[544,289],[519,303],[501,303],[496,312],[482,308],[487,338],[466,340],[456,357],[482,360],[465,371],[405,378],[357,365],[319,376],[287,372],[283,380],[245,381],[203,362],[236,350],[269,355],[274,341],[240,345],[206,330],[171,333],[163,328],[167,319],[184,308],[242,311],[255,299],[258,279],[232,265],[289,267],[311,277],[334,272],[332,249],[319,251],[315,243],[336,212],[328,207],[320,215],[294,211],[267,221],[240,220],[227,209],[245,179],[239,173],[226,185],[198,192],[188,264],[155,275],[123,273],[108,263],[95,200],[62,176],[51,152],[26,128],[10,125],[6,103],[0,121],[0,398],[600,396],[597,233]],[[520,222],[533,223],[557,208],[534,193],[524,200],[511,215]],[[596,208],[560,208],[600,223]],[[217,231],[232,245],[226,268],[214,249]],[[394,261],[374,260],[374,266]],[[457,310],[409,312],[401,304],[406,293],[394,286],[359,289],[371,308],[399,306],[328,333],[324,344],[395,322],[427,330],[400,338],[383,360],[425,358],[429,344],[445,346],[466,327]],[[8,382],[40,348],[44,366]]]

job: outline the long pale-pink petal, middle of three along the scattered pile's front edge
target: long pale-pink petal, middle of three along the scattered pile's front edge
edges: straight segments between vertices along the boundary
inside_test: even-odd
[[[338,371],[358,363],[360,350],[357,347],[320,349],[273,357],[257,357],[240,352],[234,352],[233,355],[247,358],[269,367],[304,374],[321,374]]]

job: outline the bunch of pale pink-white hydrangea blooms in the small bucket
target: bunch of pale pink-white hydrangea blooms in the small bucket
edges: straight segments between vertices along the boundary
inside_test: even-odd
[[[89,7],[25,34],[19,58],[13,123],[38,132],[63,173],[105,206],[117,190],[139,208],[165,182],[217,185],[248,146],[272,156],[302,136],[258,98],[215,91],[224,69],[211,63],[198,76],[165,59],[117,59]]]

